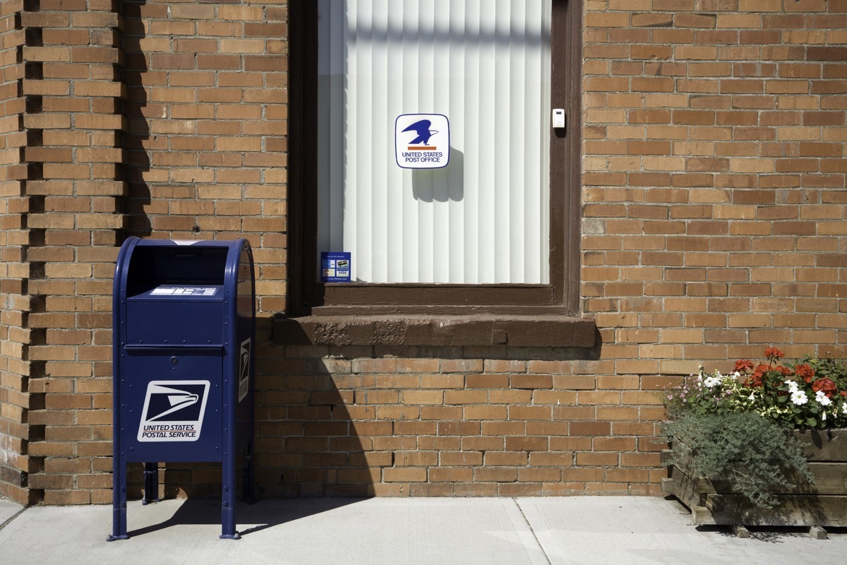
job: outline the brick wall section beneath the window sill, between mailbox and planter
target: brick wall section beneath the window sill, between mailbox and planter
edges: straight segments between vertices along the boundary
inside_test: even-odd
[[[363,349],[261,352],[266,494],[659,493],[656,377],[567,350]]]

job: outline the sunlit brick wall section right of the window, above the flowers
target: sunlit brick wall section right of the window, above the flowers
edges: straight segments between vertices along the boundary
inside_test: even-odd
[[[847,3],[589,6],[582,280],[604,356],[843,355]]]

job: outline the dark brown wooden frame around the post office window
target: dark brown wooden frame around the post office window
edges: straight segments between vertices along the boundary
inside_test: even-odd
[[[290,143],[286,317],[313,319],[313,322],[341,316],[356,319],[448,316],[451,319],[465,317],[468,322],[473,322],[474,316],[493,316],[506,324],[510,319],[523,323],[527,317],[558,318],[568,324],[584,321],[579,319],[582,0],[553,0],[552,8],[551,108],[565,108],[567,127],[551,130],[549,285],[324,284],[316,280],[316,4],[313,0],[291,0],[288,8]],[[580,327],[584,328],[585,335],[591,334],[593,341],[593,323],[590,327],[585,324]],[[561,345],[569,344],[568,340],[564,341],[567,343]]]

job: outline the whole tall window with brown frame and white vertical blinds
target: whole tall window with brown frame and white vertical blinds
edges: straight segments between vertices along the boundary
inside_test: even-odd
[[[289,14],[291,317],[578,313],[579,2]],[[446,164],[401,163],[424,149]],[[321,282],[321,252],[351,252],[351,282]]]

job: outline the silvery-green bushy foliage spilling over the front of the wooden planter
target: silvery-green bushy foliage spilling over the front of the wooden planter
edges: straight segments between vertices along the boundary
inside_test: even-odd
[[[695,470],[727,480],[757,507],[772,508],[780,488],[811,482],[803,451],[789,430],[751,412],[687,413],[668,422],[665,433],[690,451]],[[678,454],[678,455],[685,455]]]

